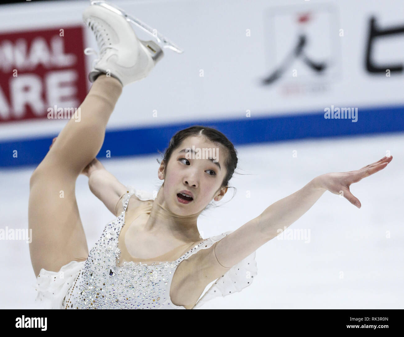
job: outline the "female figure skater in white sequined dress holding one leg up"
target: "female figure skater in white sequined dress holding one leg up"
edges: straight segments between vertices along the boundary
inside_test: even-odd
[[[227,192],[238,161],[233,144],[212,128],[181,130],[158,168],[164,183],[155,198],[121,184],[95,157],[122,87],[146,77],[154,53],[162,51],[156,44],[147,48],[112,10],[93,4],[83,18],[100,49],[89,76],[93,86],[80,105],[81,121],[68,121],[30,179],[29,250],[42,308],[192,309],[241,291],[257,275],[256,249],[278,228],[299,219],[326,190],[342,190],[360,208],[349,186],[392,160],[318,176],[240,228],[202,239],[197,219]],[[193,146],[219,149],[217,160],[191,159],[187,149]],[[75,198],[79,174],[88,176],[91,191],[116,216],[90,252]]]

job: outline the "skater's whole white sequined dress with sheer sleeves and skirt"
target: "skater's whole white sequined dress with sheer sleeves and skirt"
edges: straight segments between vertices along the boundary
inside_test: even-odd
[[[178,260],[159,264],[123,262],[116,266],[120,254],[118,237],[124,224],[126,207],[131,195],[141,200],[154,200],[151,193],[128,188],[124,196],[123,211],[109,222],[86,261],[72,261],[59,272],[41,269],[36,279],[38,291],[35,303],[43,309],[185,309],[171,302],[169,293],[174,272],[180,262],[200,249],[211,247],[223,239],[228,231],[205,239]],[[248,275],[248,276],[246,276]],[[206,301],[241,291],[257,275],[255,251],[230,268],[212,286],[202,293],[193,309]]]

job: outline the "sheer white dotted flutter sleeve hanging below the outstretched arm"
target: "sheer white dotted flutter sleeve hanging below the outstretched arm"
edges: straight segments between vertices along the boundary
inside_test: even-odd
[[[210,239],[213,242],[219,241],[231,232],[233,231],[229,230],[228,232],[211,237]],[[224,297],[242,291],[245,287],[252,284],[255,276],[257,276],[257,262],[255,261],[254,251],[244,260],[231,267],[223,276],[219,277],[206,293],[202,295],[193,309],[199,308],[215,297]]]

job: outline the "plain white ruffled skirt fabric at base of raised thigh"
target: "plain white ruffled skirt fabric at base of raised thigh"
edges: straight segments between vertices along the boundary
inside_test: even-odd
[[[37,297],[35,306],[38,309],[63,309],[62,301],[75,278],[84,267],[85,261],[72,261],[62,266],[59,272],[51,272],[42,268],[36,278]]]

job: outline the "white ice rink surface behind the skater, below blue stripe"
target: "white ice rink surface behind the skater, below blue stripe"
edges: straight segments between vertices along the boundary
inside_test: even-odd
[[[309,240],[278,236],[268,241],[256,251],[258,275],[252,284],[201,309],[403,309],[403,144],[403,134],[381,134],[236,146],[236,172],[242,173],[230,180],[236,195],[229,201],[229,188],[220,207],[202,212],[198,228],[203,238],[236,230],[316,176],[358,170],[386,151],[393,160],[351,185],[361,209],[326,191],[288,228],[307,230]],[[100,160],[123,184],[153,191],[162,184],[156,158],[158,153]],[[0,171],[1,228],[28,228],[34,168]],[[91,249],[115,216],[91,193],[85,176],[77,180],[76,198]],[[34,308],[36,279],[28,243],[0,241],[0,255],[0,308]]]

